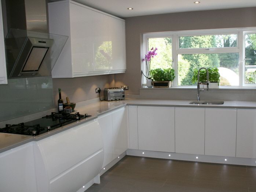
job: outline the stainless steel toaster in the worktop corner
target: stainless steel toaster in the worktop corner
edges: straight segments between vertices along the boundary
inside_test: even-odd
[[[124,90],[118,87],[105,88],[103,93],[106,101],[125,99]]]

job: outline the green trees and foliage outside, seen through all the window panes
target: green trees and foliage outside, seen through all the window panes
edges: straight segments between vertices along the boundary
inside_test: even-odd
[[[245,65],[256,66],[256,34],[246,35]],[[180,37],[180,48],[215,48],[236,47],[235,35],[199,35]],[[152,60],[151,69],[167,69],[172,67],[172,42],[171,38],[150,38],[149,48],[157,47],[158,54]],[[204,54],[178,54],[178,85],[196,85],[192,81],[194,71],[201,67],[228,68],[239,75],[239,53],[204,53]],[[227,79],[221,77],[220,85],[228,85]],[[256,83],[256,73],[245,71],[245,83]]]

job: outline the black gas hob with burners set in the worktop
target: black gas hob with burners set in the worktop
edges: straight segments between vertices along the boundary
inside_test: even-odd
[[[83,115],[79,114],[79,112],[71,114],[52,112],[50,115],[33,121],[19,124],[6,124],[6,127],[0,128],[0,132],[36,136],[88,117],[91,117],[91,115]]]

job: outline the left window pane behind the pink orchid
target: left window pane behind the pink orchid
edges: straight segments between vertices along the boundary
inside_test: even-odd
[[[157,56],[151,59],[151,69],[172,67],[172,38],[149,38],[149,49],[157,48]]]

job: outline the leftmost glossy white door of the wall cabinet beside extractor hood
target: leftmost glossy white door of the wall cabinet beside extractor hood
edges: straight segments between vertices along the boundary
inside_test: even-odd
[[[99,15],[95,14],[95,11],[70,3],[70,39],[74,75],[94,71],[94,33],[95,26],[98,26],[98,18]]]

